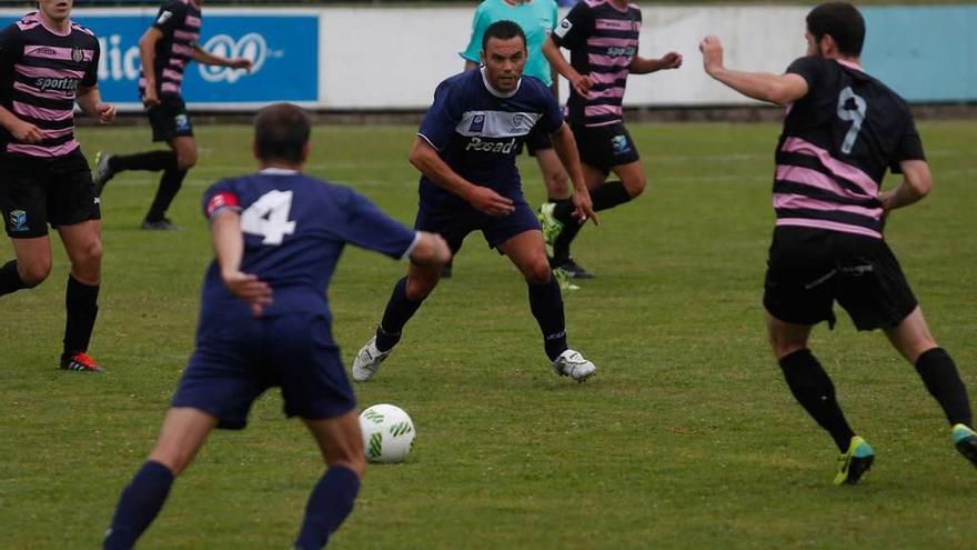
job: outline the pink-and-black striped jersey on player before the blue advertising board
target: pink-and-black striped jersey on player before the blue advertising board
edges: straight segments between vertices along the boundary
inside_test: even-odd
[[[180,94],[183,70],[200,40],[200,7],[194,0],[169,0],[160,8],[153,22],[153,27],[163,33],[163,38],[157,42],[153,67],[160,97]],[[139,79],[139,94],[142,96],[144,91],[143,73]]]

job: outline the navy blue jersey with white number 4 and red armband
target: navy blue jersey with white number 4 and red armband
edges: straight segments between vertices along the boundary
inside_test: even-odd
[[[294,312],[331,319],[325,289],[343,247],[352,243],[392,258],[413,250],[416,233],[392,220],[355,191],[290,170],[259,173],[214,183],[203,196],[204,213],[224,208],[241,212],[244,258],[241,271],[272,287],[274,302],[265,317]],[[207,271],[198,334],[250,316],[231,294],[216,261]]]

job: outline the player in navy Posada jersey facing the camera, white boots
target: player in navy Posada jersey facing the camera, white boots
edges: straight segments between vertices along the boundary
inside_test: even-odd
[[[593,211],[573,133],[543,82],[522,78],[525,62],[526,39],[520,26],[497,21],[482,38],[484,67],[437,86],[410,157],[422,174],[414,227],[444,236],[454,253],[469,233],[481,230],[488,246],[507,256],[525,277],[530,309],[554,370],[582,382],[596,367],[566,343],[560,286],[515,166],[518,148],[533,127],[550,134],[570,170],[577,219],[585,221]],[[353,361],[354,380],[367,380],[376,372],[440,278],[440,270],[411,264],[407,276],[394,286],[376,334]]]

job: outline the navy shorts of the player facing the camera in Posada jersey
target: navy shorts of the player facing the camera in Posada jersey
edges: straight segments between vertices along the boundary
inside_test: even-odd
[[[540,230],[540,220],[525,199],[520,197],[514,202],[515,210],[502,218],[482,213],[467,203],[455,208],[431,208],[422,202],[414,229],[444,237],[453,254],[462,248],[465,237],[475,230],[482,231],[488,248],[497,248],[520,233]]]

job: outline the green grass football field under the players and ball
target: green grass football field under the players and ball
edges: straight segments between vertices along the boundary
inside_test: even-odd
[[[933,196],[888,237],[939,342],[977,394],[977,124],[921,124]],[[145,128],[84,129],[94,151],[149,147]],[[632,127],[649,188],[585,229],[598,278],[565,296],[571,344],[601,371],[554,376],[515,269],[472,236],[361,403],[417,428],[407,463],[370,467],[331,548],[974,548],[977,472],[935,401],[879,333],[844,318],[813,346],[849,420],[877,452],[860,487],[830,484],[835,449],[790,397],[759,303],[774,126]],[[0,547],[94,548],[154,441],[191,352],[210,244],[200,196],[250,171],[250,129],[201,127],[201,162],[171,217],[138,228],[155,189],[127,173],[102,198],[104,270],[91,352],[108,369],[56,369],[67,262],[0,298]],[[308,171],[413,220],[410,127],[318,128]],[[542,198],[524,158],[525,189]],[[888,183],[893,184],[895,180]],[[12,254],[0,244],[0,261]],[[404,266],[349,250],[331,287],[346,361]],[[145,549],[285,548],[322,473],[311,438],[270,393],[244,432],[218,432],[174,486]]]

